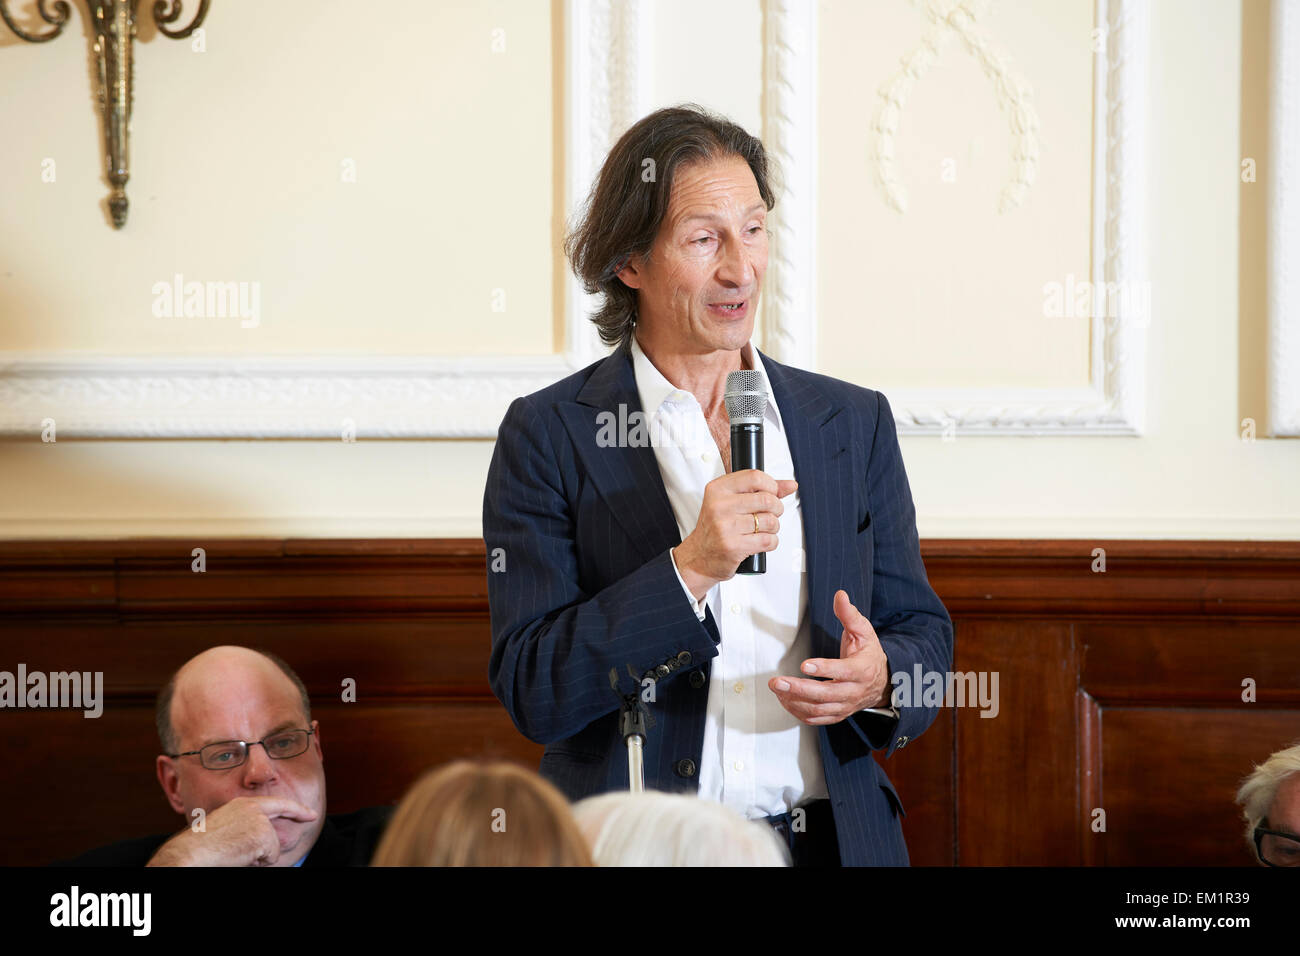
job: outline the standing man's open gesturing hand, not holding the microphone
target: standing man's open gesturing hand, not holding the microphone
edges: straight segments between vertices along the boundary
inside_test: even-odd
[[[884,648],[845,591],[835,592],[835,617],[844,624],[838,659],[811,657],[803,672],[811,678],[772,678],[768,688],[781,706],[803,723],[838,723],[863,708],[889,706],[889,665]]]

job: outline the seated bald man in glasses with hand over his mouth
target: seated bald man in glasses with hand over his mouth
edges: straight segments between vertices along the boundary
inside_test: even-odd
[[[364,866],[391,808],[325,816],[320,723],[287,663],[218,646],[157,698],[162,792],[181,832],[92,851],[75,866]]]

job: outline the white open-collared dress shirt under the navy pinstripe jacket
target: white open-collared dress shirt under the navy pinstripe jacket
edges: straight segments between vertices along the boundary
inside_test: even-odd
[[[746,343],[744,362],[758,371],[770,401],[764,412],[763,471],[794,477],[790,447],[781,427],[767,369]],[[696,528],[705,485],[727,473],[718,445],[693,394],[676,388],[632,338],[637,392],[682,540]],[[719,581],[699,602],[682,581],[696,615],[712,610],[722,636],[708,682],[699,796],[745,817],[785,813],[827,796],[818,728],[790,714],[767,682],[801,676],[811,656],[803,522],[798,492],[781,499],[779,545],[767,553],[767,572]],[[676,561],[673,561],[676,568]],[[677,574],[681,580],[681,572]]]

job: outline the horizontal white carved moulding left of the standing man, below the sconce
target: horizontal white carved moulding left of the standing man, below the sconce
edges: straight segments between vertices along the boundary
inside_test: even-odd
[[[38,438],[478,438],[568,356],[0,359],[0,432]]]

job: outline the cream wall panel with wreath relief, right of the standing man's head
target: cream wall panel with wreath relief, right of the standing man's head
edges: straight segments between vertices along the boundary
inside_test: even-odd
[[[1043,287],[1089,278],[1092,23],[1091,0],[1001,0],[978,22],[1039,114],[1036,177],[1006,213],[1008,116],[953,34],[901,111],[898,213],[874,182],[872,122],[930,23],[905,3],[819,5],[822,371],[881,389],[1088,382],[1088,319],[1045,317]]]

